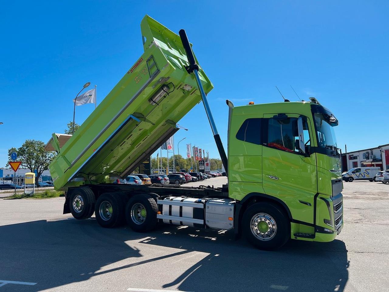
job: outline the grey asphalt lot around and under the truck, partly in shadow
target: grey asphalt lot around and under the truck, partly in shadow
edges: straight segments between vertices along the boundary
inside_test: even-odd
[[[94,218],[62,215],[64,198],[0,199],[0,292],[388,291],[389,184],[344,187],[345,223],[335,241],[291,240],[274,252],[231,231],[104,229]]]

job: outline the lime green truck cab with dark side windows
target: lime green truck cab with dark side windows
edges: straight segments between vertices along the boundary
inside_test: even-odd
[[[343,225],[335,116],[316,99],[227,104],[228,188],[240,212],[253,202],[269,202],[290,222],[291,238],[333,240]],[[257,213],[266,214],[260,208]],[[275,222],[269,215],[262,219]],[[262,239],[272,234],[255,230],[252,233]]]

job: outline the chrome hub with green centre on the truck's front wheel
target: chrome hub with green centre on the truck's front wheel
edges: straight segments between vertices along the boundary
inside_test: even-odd
[[[259,213],[251,218],[251,232],[259,240],[267,241],[277,233],[277,224],[272,216],[266,213]]]

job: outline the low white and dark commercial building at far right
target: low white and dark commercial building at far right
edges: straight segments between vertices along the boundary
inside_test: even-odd
[[[342,171],[354,167],[380,167],[389,169],[389,144],[342,154]]]

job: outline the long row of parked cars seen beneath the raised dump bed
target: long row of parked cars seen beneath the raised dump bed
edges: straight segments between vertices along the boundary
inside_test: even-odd
[[[172,174],[131,174],[125,179],[116,179],[113,183],[130,184],[130,185],[182,185],[193,181],[203,181],[209,178],[216,178],[222,176],[219,171],[202,173],[202,172],[174,172]]]

